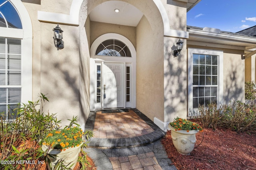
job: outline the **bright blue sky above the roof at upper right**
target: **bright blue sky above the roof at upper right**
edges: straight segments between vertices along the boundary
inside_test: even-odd
[[[188,11],[187,25],[241,31],[256,25],[256,0],[201,0]]]

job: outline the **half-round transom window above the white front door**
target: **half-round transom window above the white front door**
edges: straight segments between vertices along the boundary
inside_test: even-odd
[[[132,57],[127,45],[117,39],[108,39],[98,46],[95,55]]]

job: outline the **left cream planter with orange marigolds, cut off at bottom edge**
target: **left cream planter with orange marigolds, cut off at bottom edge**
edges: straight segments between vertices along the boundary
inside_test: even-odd
[[[76,118],[73,117],[72,121],[76,121]],[[92,137],[91,131],[86,131],[85,134],[80,127],[72,125],[73,123],[70,123],[64,129],[50,131],[45,137],[42,150],[47,155],[49,170],[74,169],[81,146],[85,142],[83,135],[86,135],[86,139]]]

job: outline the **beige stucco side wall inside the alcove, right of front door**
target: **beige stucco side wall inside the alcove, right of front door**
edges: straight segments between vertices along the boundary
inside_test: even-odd
[[[145,16],[136,30],[136,107],[151,120],[163,120],[163,39],[154,33]]]

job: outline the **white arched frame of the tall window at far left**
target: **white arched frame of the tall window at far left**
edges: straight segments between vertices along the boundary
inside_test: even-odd
[[[22,29],[0,27],[0,37],[21,39],[21,103],[28,103],[32,101],[32,23],[22,1],[9,1],[20,15]]]

